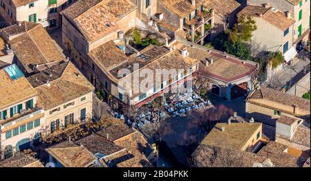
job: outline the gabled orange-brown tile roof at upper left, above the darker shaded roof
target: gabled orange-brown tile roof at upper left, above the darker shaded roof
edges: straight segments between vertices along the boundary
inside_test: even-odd
[[[32,65],[66,60],[61,48],[41,25],[12,39],[10,45],[28,73],[32,72]]]

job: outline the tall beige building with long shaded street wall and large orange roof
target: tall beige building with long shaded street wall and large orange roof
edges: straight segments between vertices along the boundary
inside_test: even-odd
[[[64,47],[96,87],[99,83],[95,76],[97,67],[88,58],[88,53],[108,41],[122,38],[125,32],[134,28],[136,9],[128,0],[80,0],[62,12]]]

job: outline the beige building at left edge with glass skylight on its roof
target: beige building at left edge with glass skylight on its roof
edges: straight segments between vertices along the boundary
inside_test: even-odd
[[[0,70],[0,133],[3,156],[35,145],[44,127],[38,94],[16,65]]]

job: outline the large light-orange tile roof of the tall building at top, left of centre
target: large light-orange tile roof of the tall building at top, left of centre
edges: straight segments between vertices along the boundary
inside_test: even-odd
[[[82,2],[85,3],[79,0],[63,14],[75,22],[88,41],[95,41],[117,30],[116,22],[137,8],[129,0],[86,1],[86,5],[77,8]]]

